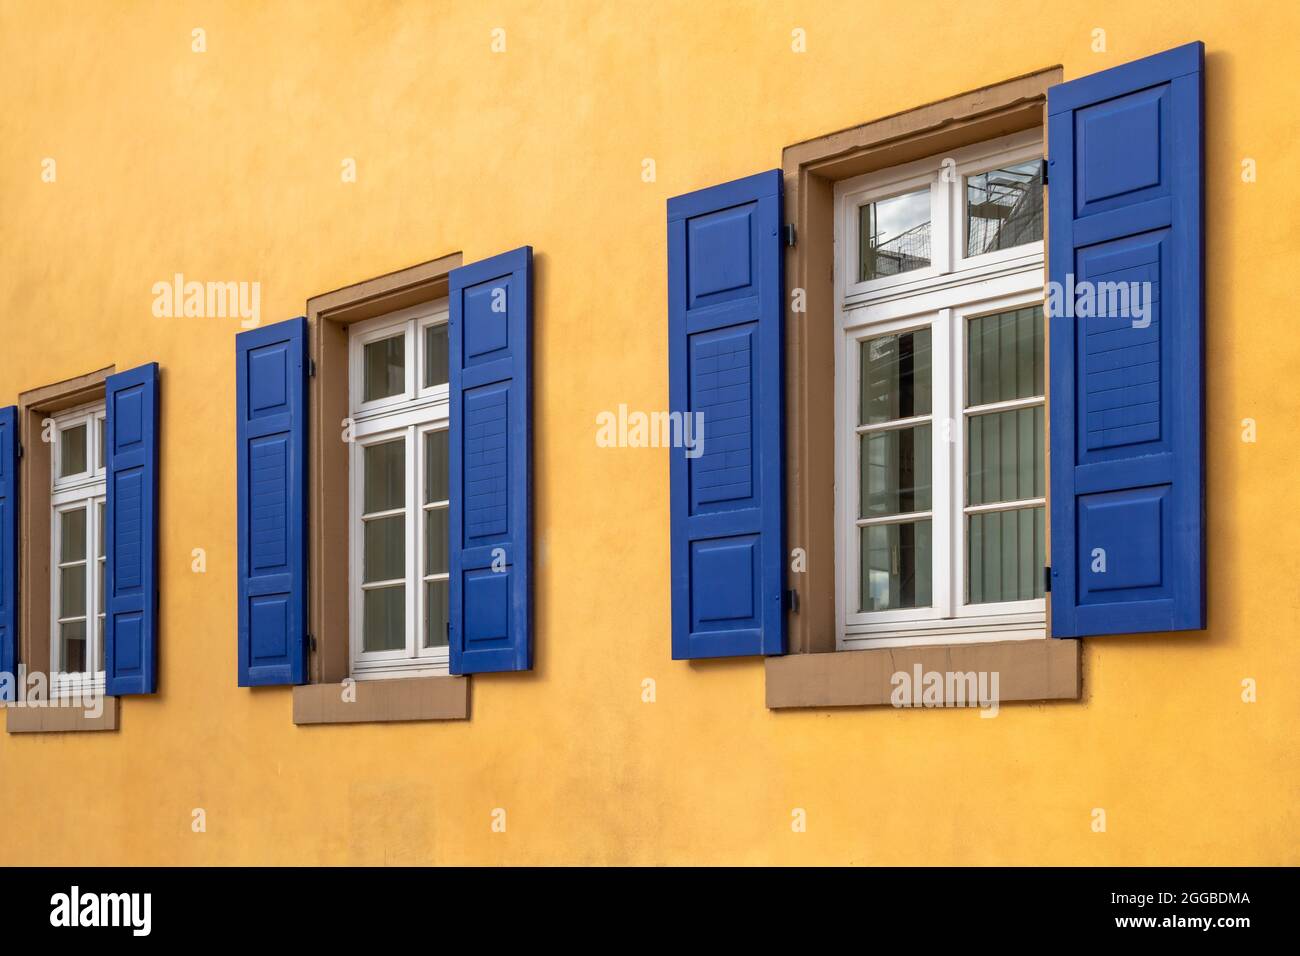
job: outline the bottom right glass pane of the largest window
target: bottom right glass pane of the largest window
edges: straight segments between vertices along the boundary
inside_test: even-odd
[[[967,516],[966,600],[1030,601],[1043,597],[1043,507]]]

